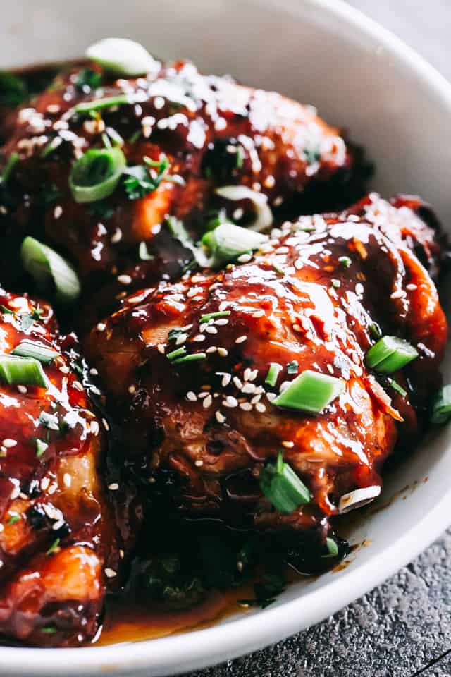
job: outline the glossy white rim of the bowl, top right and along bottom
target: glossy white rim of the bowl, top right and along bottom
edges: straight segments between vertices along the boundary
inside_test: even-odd
[[[280,0],[249,0],[253,4],[280,8]],[[284,8],[297,13],[299,0],[282,0]],[[451,83],[426,59],[416,53],[390,30],[383,28],[362,11],[344,0],[302,0],[312,10],[323,11],[331,20],[341,20],[354,27],[371,43],[377,42],[399,63],[403,63],[450,110]],[[94,673],[140,673],[152,670],[152,676],[174,675],[247,654],[273,644],[317,623],[323,616],[316,609],[326,608],[334,614],[343,606],[379,585],[437,539],[451,523],[451,487],[419,523],[412,525],[391,546],[374,554],[369,561],[356,564],[319,589],[263,613],[249,614],[228,623],[165,638],[123,642],[102,647],[72,649],[37,649],[0,647],[0,674],[8,677],[49,677],[60,675],[83,677]],[[425,537],[418,539],[422,531]],[[352,592],[350,592],[352,591]],[[330,600],[333,599],[333,603]],[[321,618],[320,618],[321,616]],[[302,621],[300,620],[302,618]]]

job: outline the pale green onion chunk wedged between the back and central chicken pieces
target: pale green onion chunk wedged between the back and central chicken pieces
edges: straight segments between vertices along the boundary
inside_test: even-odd
[[[205,233],[202,243],[209,248],[211,265],[216,267],[235,261],[242,254],[259,249],[260,245],[267,240],[268,236],[254,233],[247,228],[241,228],[235,224],[221,224],[214,231]]]

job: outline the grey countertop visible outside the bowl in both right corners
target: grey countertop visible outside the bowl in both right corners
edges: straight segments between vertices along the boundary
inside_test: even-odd
[[[451,80],[451,0],[350,4],[397,33]],[[450,677],[450,561],[451,529],[327,621],[190,677]]]

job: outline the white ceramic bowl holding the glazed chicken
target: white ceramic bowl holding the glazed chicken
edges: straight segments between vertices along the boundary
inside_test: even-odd
[[[368,148],[378,190],[421,193],[445,227],[451,221],[451,86],[339,0],[15,0],[0,35],[2,66],[66,59],[100,37],[132,37],[156,55],[188,56],[204,71],[230,72],[311,102]],[[0,648],[0,675],[169,675],[321,621],[393,574],[451,522],[450,441],[451,429],[441,430],[386,478],[380,502],[388,506],[352,530],[352,542],[366,537],[371,545],[342,571],[292,585],[268,609],[206,630],[110,647]],[[402,492],[406,485],[415,491]]]

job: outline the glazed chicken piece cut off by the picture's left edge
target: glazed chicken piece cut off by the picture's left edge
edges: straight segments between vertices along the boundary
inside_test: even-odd
[[[0,304],[1,355],[24,339],[58,353],[47,389],[0,385],[0,633],[78,646],[97,632],[104,571],[118,571],[104,430],[51,307],[3,290]]]

